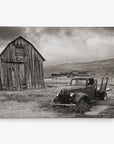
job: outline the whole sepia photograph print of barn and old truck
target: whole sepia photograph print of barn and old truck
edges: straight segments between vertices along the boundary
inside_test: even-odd
[[[0,27],[0,118],[114,118],[114,27]]]

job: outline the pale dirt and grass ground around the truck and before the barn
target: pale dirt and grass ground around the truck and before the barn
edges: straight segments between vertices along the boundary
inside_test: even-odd
[[[80,114],[55,109],[52,101],[61,87],[69,85],[70,78],[46,79],[45,89],[0,92],[0,118],[113,118],[114,85],[107,92],[108,100],[95,103],[90,111]]]

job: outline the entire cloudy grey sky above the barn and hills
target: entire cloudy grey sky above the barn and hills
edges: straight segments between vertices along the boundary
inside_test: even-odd
[[[23,36],[46,59],[46,65],[114,58],[113,27],[0,27],[0,52]]]

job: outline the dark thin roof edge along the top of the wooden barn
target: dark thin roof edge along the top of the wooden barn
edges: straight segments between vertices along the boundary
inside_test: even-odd
[[[28,40],[26,40],[24,37],[22,37],[22,36],[19,36],[19,37],[17,37],[16,39],[14,39],[13,41],[11,41],[11,42],[6,46],[6,48],[7,48],[11,43],[13,43],[14,41],[16,41],[16,40],[19,39],[19,38],[22,38],[22,39],[25,40],[27,43],[29,43],[29,44],[35,49],[35,51],[40,55],[40,57],[43,59],[43,61],[45,61],[44,57],[39,53],[39,51],[35,48],[35,46],[34,46],[31,42],[29,42]],[[5,49],[6,49],[6,48],[5,48]],[[5,49],[1,52],[0,56],[3,54],[3,52],[5,51]]]

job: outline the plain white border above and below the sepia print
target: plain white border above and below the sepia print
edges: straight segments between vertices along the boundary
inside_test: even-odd
[[[109,0],[4,0],[1,26],[114,26]],[[111,144],[113,119],[0,120],[1,144]]]

